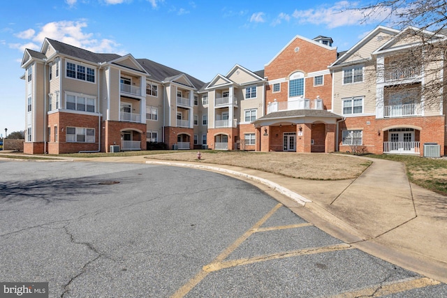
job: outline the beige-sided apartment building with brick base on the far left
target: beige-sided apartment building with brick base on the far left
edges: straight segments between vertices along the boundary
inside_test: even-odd
[[[203,82],[131,54],[98,54],[45,38],[25,50],[24,152],[145,150],[147,142],[193,149]],[[198,141],[198,140],[197,140]]]

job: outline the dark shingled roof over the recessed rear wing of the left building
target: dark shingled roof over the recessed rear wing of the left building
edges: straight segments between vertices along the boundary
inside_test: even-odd
[[[147,73],[149,73],[150,78],[159,82],[173,80],[173,77],[177,77],[178,75],[184,74],[188,80],[193,84],[193,87],[196,89],[201,89],[205,83],[198,80],[196,77],[192,75],[188,75],[187,73],[182,73],[182,71],[176,70],[174,68],[170,68],[163,64],[159,64],[155,61],[149,59],[136,59],[138,63],[144,68]]]

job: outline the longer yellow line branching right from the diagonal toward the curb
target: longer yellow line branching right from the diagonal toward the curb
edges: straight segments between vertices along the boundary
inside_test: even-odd
[[[299,255],[312,255],[315,253],[327,253],[328,251],[342,251],[342,250],[351,249],[351,248],[353,248],[353,246],[350,246],[349,244],[342,243],[342,244],[323,246],[323,247],[318,247],[318,248],[306,248],[306,249],[300,249],[297,251],[288,251],[285,253],[272,253],[270,255],[258,255],[254,258],[244,258],[244,259],[230,260],[230,261],[224,261],[224,262],[213,262],[210,265],[203,267],[203,270],[212,272],[212,271],[218,271],[220,269],[226,269],[226,268],[230,268],[230,267],[249,265],[249,264],[253,264],[256,262],[265,262],[265,261],[270,261],[270,260],[291,258],[291,257],[299,256]]]

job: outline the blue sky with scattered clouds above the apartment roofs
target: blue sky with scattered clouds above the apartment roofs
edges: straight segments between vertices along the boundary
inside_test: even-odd
[[[204,82],[235,64],[261,70],[294,36],[330,36],[348,50],[379,20],[359,1],[21,0],[0,8],[0,134],[24,130],[25,48],[45,37],[94,52],[132,54]]]

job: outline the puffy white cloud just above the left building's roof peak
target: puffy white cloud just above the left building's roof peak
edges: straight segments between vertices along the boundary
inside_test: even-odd
[[[82,47],[83,49],[92,52],[112,52],[122,54],[122,51],[119,50],[119,43],[115,40],[107,38],[96,39],[94,38],[94,33],[84,32],[85,28],[87,28],[87,22],[50,22],[43,25],[37,33],[34,29],[28,29],[17,33],[17,37],[29,40],[29,42],[23,44],[10,44],[9,47],[18,49],[21,52],[23,52],[25,48],[40,50],[43,40],[45,38],[50,38],[59,40],[62,43],[67,43],[68,45],[74,45],[75,47]]]

